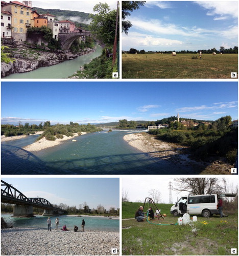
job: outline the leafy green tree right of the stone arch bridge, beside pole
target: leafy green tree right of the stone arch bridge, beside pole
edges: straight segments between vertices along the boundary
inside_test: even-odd
[[[92,21],[89,30],[103,44],[112,46],[115,37],[116,10],[110,11],[106,3],[100,3],[94,6],[93,11],[98,14],[90,15]]]

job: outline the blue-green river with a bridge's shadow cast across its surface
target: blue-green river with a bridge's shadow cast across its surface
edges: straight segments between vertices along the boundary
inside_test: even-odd
[[[62,144],[30,153],[21,147],[34,142],[28,137],[2,143],[2,175],[125,175],[182,172],[164,158],[154,158],[130,146],[123,137],[132,131],[85,134]]]

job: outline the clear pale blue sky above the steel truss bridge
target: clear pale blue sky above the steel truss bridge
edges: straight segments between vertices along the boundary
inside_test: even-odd
[[[118,178],[3,178],[27,197],[40,197],[52,204],[76,206],[87,202],[90,209],[99,204],[109,210],[120,207]]]

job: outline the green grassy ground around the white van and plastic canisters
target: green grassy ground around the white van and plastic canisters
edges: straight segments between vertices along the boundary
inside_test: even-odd
[[[238,251],[237,212],[228,218],[198,216],[194,225],[160,226],[147,221],[137,222],[134,213],[143,203],[122,203],[122,255],[231,255]],[[166,218],[156,224],[175,224],[169,204],[157,204]],[[148,208],[148,204],[145,210]],[[192,217],[192,216],[190,216]],[[195,230],[196,229],[196,230]]]

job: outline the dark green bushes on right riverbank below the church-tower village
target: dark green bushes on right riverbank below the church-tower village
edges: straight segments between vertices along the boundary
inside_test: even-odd
[[[199,160],[209,157],[224,157],[227,163],[234,164],[237,155],[237,127],[232,127],[231,117],[225,116],[210,123],[197,126],[183,126],[170,122],[169,129],[150,130],[149,134],[166,142],[188,146],[192,156]]]

